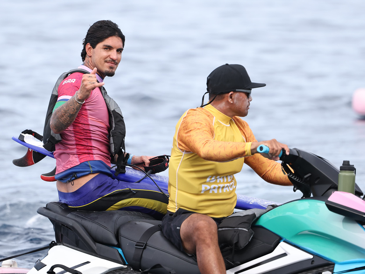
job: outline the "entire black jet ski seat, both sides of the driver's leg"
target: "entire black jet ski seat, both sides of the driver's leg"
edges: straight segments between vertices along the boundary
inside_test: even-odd
[[[200,273],[196,258],[178,250],[163,235],[161,221],[147,214],[73,210],[61,202],[47,203],[37,212],[54,225],[58,244],[123,265],[128,263],[134,269],[146,270],[160,264],[176,273]],[[227,269],[273,252],[281,241],[280,236],[265,228],[251,229],[254,235],[245,248],[234,253],[222,250]]]

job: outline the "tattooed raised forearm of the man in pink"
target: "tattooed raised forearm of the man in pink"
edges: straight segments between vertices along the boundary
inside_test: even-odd
[[[74,95],[62,106],[57,107],[51,116],[50,126],[52,131],[58,134],[68,128],[75,121],[81,106],[82,104],[76,102]]]

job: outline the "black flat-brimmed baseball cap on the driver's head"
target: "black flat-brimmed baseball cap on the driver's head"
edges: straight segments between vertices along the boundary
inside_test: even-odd
[[[237,64],[219,66],[207,77],[207,91],[212,94],[251,90],[265,85],[252,83],[245,67]]]

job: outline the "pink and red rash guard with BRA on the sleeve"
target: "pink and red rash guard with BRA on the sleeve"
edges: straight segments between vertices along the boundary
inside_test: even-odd
[[[81,65],[78,68],[92,70]],[[83,73],[72,73],[58,87],[58,99],[54,110],[66,103],[80,89]],[[99,82],[103,79],[96,75]],[[54,111],[53,110],[53,111]],[[100,88],[91,92],[82,104],[75,121],[61,133],[62,141],[53,153],[56,174],[85,161],[100,160],[110,166],[109,114]]]

